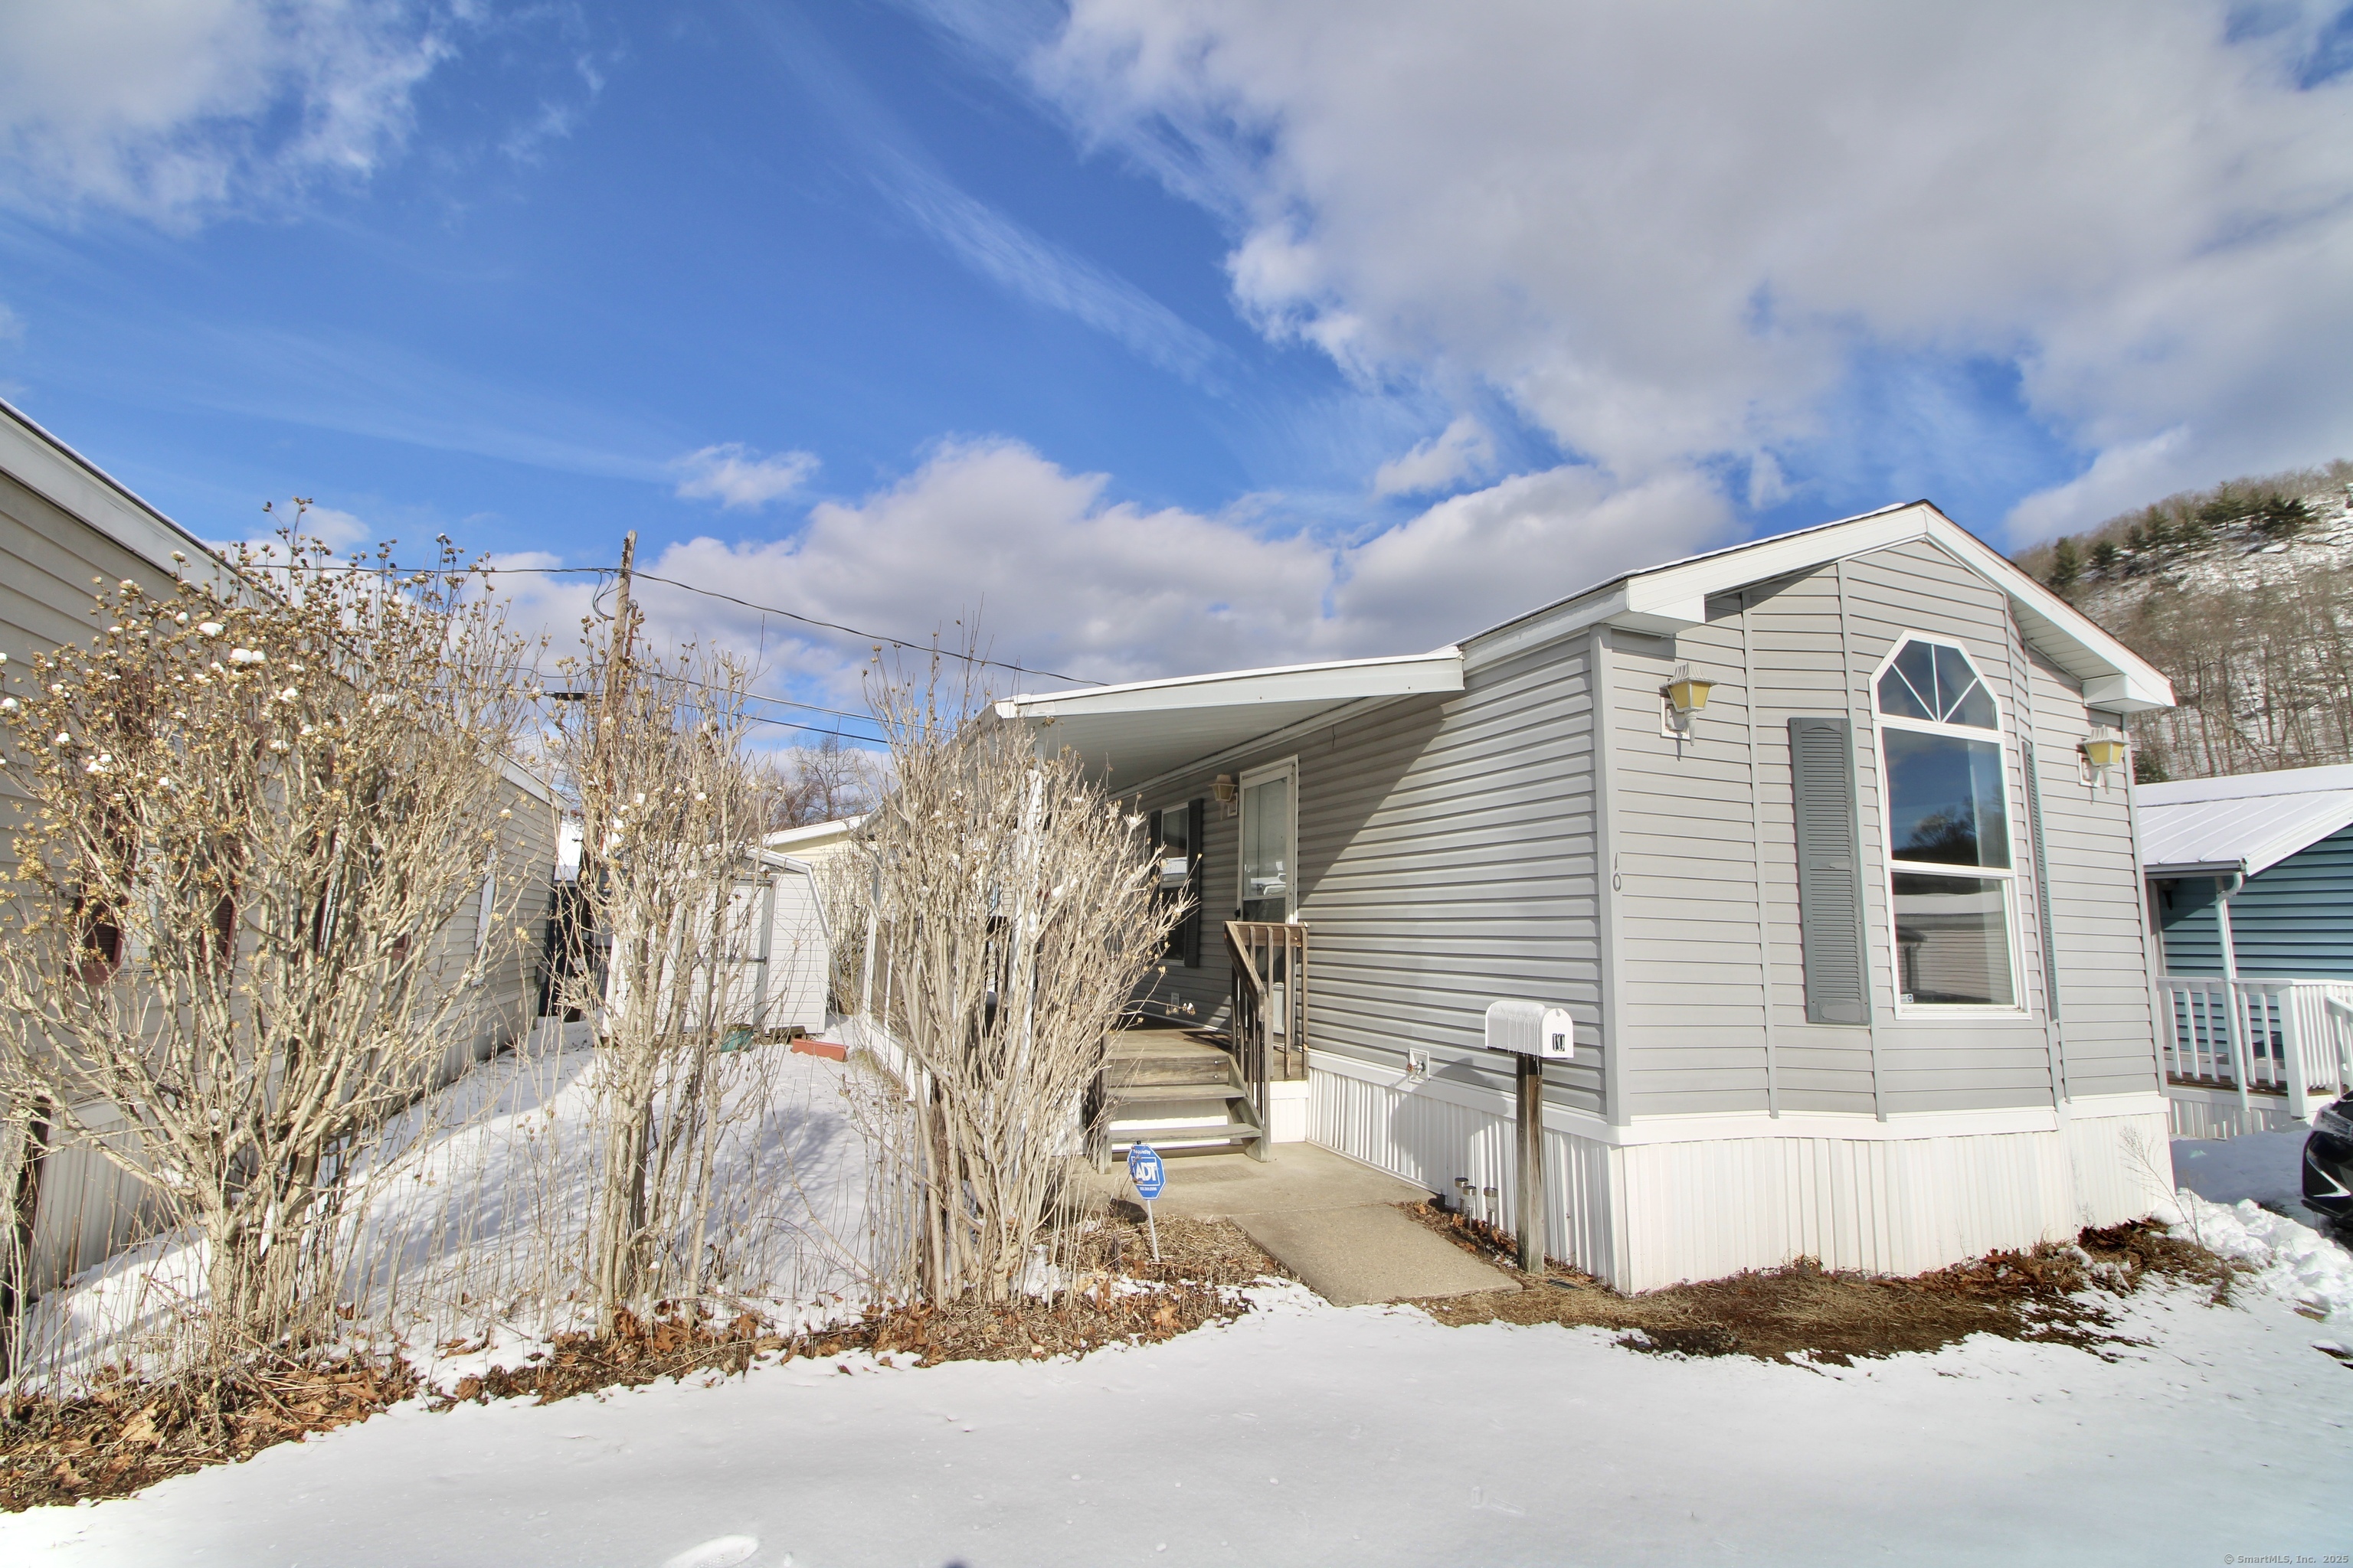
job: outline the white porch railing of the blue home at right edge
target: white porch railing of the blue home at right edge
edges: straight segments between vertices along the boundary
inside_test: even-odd
[[[2304,1121],[2353,1081],[2353,980],[2165,976],[2165,1077],[2174,1084],[2285,1093]],[[2318,1095],[2318,1100],[2315,1100]]]

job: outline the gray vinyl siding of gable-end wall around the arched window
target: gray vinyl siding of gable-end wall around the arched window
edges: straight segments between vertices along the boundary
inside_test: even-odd
[[[1871,675],[1904,632],[1969,654],[2002,710],[2017,1013],[1899,1016]],[[1661,733],[1675,663],[1715,682],[1689,738]],[[1708,604],[1675,639],[1612,632],[1609,846],[1626,947],[1624,1072],[1635,1117],[1958,1112],[2153,1088],[2125,792],[2075,778],[2080,684],[2019,639],[2007,597],[1929,543],[1859,555]],[[1788,719],[1847,715],[1857,743],[1871,1025],[1805,1018]],[[2021,736],[2038,745],[2064,1030],[2047,1027]],[[1753,750],[1753,755],[1751,755]],[[1753,769],[1753,771],[1751,771]],[[1755,804],[1751,806],[1751,776]],[[1767,1013],[1769,1006],[1769,1013]]]

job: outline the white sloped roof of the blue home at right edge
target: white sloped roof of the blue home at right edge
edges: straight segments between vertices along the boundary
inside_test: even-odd
[[[2132,804],[2151,877],[2231,865],[2252,877],[2353,827],[2353,766],[2134,785]]]

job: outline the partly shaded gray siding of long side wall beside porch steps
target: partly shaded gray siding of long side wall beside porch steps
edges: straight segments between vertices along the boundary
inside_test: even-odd
[[[1214,773],[1297,757],[1299,917],[1308,924],[1308,1044],[1433,1077],[1508,1086],[1482,1048],[1499,997],[1567,1006],[1577,1060],[1548,1103],[1602,1110],[1600,931],[1591,698],[1584,642],[1473,670],[1449,698],[1409,698],[1271,745],[1139,797],[1146,811],[1209,795]],[[1169,966],[1151,994],[1224,1018],[1221,922],[1238,905],[1240,823],[1205,820],[1202,966]]]

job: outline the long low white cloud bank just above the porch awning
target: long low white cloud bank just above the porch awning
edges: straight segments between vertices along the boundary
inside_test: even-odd
[[[1466,637],[1628,567],[1718,543],[1729,510],[1678,470],[1619,487],[1593,468],[1518,475],[1452,496],[1360,545],[1268,531],[1264,517],[1139,508],[1019,442],[951,442],[861,501],[821,501],[791,536],[694,538],[647,574],[774,607],[955,646],[1082,679],[1405,654]],[[548,625],[576,621],[586,588],[529,588]],[[856,708],[871,644],[784,616],[640,581],[656,644],[715,639],[774,682]],[[1052,686],[998,670],[995,689]],[[772,686],[776,689],[776,686]]]

